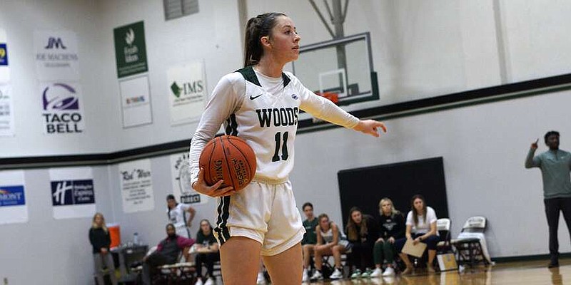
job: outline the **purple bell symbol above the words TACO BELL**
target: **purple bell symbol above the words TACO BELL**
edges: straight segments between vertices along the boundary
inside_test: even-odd
[[[44,89],[44,110],[79,110],[76,90],[64,83],[54,83]]]

